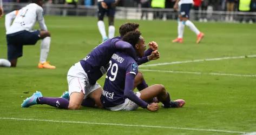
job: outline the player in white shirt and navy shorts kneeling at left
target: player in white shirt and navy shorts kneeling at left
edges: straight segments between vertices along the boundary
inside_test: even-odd
[[[28,4],[18,12],[12,11],[10,14],[6,15],[5,27],[8,60],[0,59],[0,66],[16,67],[18,57],[23,55],[23,45],[35,45],[37,40],[42,39],[38,68],[56,68],[46,61],[50,49],[51,37],[50,32],[47,31],[47,26],[44,23],[42,5],[43,0],[32,0],[31,4]],[[12,19],[14,19],[14,22],[10,25]],[[41,31],[32,31],[36,21],[38,21]]]

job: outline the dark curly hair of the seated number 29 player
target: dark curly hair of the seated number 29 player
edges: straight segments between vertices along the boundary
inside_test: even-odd
[[[135,45],[139,42],[141,32],[140,31],[130,31],[123,36],[122,40],[130,43],[135,47]]]

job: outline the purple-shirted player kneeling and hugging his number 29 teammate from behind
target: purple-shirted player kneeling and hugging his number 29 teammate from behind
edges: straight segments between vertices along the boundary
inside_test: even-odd
[[[121,36],[124,31],[136,30],[139,25],[129,24],[120,29]],[[125,28],[125,29],[124,29]],[[114,52],[123,50],[135,57],[135,50],[132,45],[123,42],[119,38],[106,40],[97,46],[89,55],[74,64],[68,72],[69,100],[64,98],[42,97],[41,92],[36,92],[31,97],[24,100],[22,107],[29,107],[35,104],[48,104],[63,109],[79,109],[81,104],[89,104],[93,99],[97,107],[102,107],[100,97],[102,88],[96,81],[104,75],[108,68],[108,61]],[[152,57],[152,59],[156,59]],[[84,100],[83,100],[84,99]],[[58,103],[58,104],[56,104]],[[88,106],[88,105],[85,105]]]

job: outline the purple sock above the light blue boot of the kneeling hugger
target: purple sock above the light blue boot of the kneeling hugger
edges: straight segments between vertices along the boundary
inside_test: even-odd
[[[64,98],[49,98],[49,97],[40,97],[37,98],[37,102],[39,104],[46,104],[53,107],[61,108],[61,109],[68,109],[69,100]]]

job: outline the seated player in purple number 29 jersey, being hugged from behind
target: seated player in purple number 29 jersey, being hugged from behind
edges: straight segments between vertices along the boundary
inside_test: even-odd
[[[146,50],[145,40],[139,31],[128,32],[123,41],[133,45],[137,56],[142,57]],[[140,92],[133,92],[134,79],[138,73],[135,60],[123,52],[116,52],[109,61],[104,90],[101,95],[101,103],[105,109],[112,111],[135,110],[143,107],[149,111],[157,111],[157,103],[151,103],[154,97],[163,103],[164,107],[182,107],[185,100],[170,100],[169,93],[160,84],[152,85]]]

